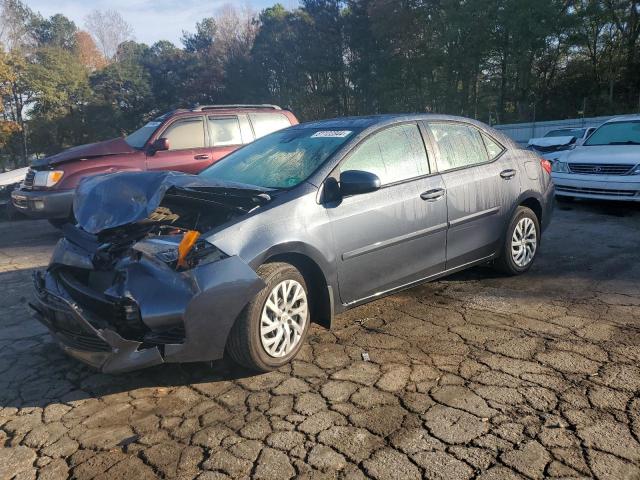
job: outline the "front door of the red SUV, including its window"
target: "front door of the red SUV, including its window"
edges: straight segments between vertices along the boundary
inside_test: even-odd
[[[211,164],[204,116],[178,117],[158,138],[169,140],[169,150],[147,156],[148,170],[177,170],[198,173]]]

